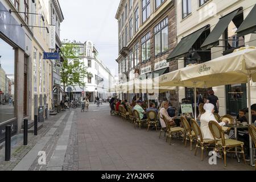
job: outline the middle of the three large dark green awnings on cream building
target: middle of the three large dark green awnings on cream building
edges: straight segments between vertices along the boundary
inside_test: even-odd
[[[210,35],[207,37],[207,39],[205,39],[205,42],[202,44],[202,49],[206,50],[214,46],[218,46],[221,35],[226,30],[226,28],[228,28],[229,23],[232,21],[234,16],[237,15],[239,10],[240,9],[232,11],[232,13],[229,13],[228,15],[220,18],[216,26],[213,28],[212,32],[210,32]]]

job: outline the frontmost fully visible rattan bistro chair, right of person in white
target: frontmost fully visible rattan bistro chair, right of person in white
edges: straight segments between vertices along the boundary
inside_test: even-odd
[[[225,139],[225,134],[224,131],[222,130],[221,126],[215,122],[215,121],[210,121],[209,122],[209,129],[210,132],[213,135],[213,138],[215,140],[215,145],[216,149],[219,151],[223,151],[224,153],[224,165],[226,167],[226,153],[227,152],[236,152],[232,151],[236,147],[241,147],[241,151],[237,151],[237,153],[241,153],[243,155],[243,160],[246,164],[245,161],[245,152],[243,151],[243,142],[240,142],[238,140],[234,139]]]

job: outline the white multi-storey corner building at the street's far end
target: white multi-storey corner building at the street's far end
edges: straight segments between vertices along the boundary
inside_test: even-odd
[[[90,102],[94,102],[96,97],[104,99],[110,97],[109,89],[113,75],[100,60],[94,44],[89,40],[85,43],[73,42],[73,44],[77,46],[77,56],[84,63],[88,75],[84,78],[85,86],[71,87],[71,100],[75,97],[88,97]],[[65,92],[67,92],[67,88]]]

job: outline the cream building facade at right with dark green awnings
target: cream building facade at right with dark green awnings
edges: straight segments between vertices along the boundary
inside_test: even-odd
[[[177,42],[189,40],[189,50],[171,53],[170,61],[178,61],[179,69],[189,64],[204,63],[232,53],[244,46],[256,46],[256,34],[238,35],[241,26],[251,11],[256,11],[255,1],[176,1]],[[191,41],[192,40],[192,41]],[[237,115],[247,107],[246,84],[218,86],[199,89],[207,98],[213,89],[220,101],[220,115]],[[251,88],[251,101],[256,103],[255,84]],[[193,89],[179,88],[179,100],[193,98]]]

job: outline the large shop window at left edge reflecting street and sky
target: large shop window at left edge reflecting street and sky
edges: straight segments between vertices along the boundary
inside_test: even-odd
[[[0,124],[15,118],[14,49],[0,38]]]

